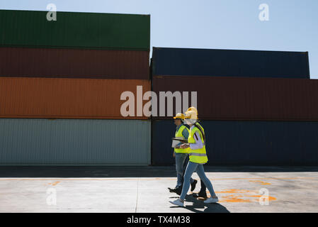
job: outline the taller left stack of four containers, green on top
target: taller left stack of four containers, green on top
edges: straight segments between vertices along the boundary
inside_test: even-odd
[[[0,165],[150,164],[150,121],[120,112],[150,90],[148,15],[0,10],[0,28]]]

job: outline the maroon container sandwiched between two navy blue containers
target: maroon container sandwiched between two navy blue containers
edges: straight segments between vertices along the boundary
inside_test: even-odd
[[[152,86],[158,100],[159,92],[189,92],[191,104],[198,92],[203,120],[318,121],[318,79],[165,76]]]

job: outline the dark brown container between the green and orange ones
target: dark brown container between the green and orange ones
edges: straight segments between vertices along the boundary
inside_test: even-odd
[[[149,51],[0,48],[0,76],[149,79]]]

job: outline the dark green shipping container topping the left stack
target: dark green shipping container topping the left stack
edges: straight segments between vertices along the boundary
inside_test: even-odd
[[[10,47],[149,50],[150,16],[0,10],[0,45]]]

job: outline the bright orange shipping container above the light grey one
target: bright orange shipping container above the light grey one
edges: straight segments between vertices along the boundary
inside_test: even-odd
[[[0,77],[0,118],[147,119],[136,116],[137,86],[147,92],[150,81]],[[135,116],[120,114],[125,91],[135,96]]]

